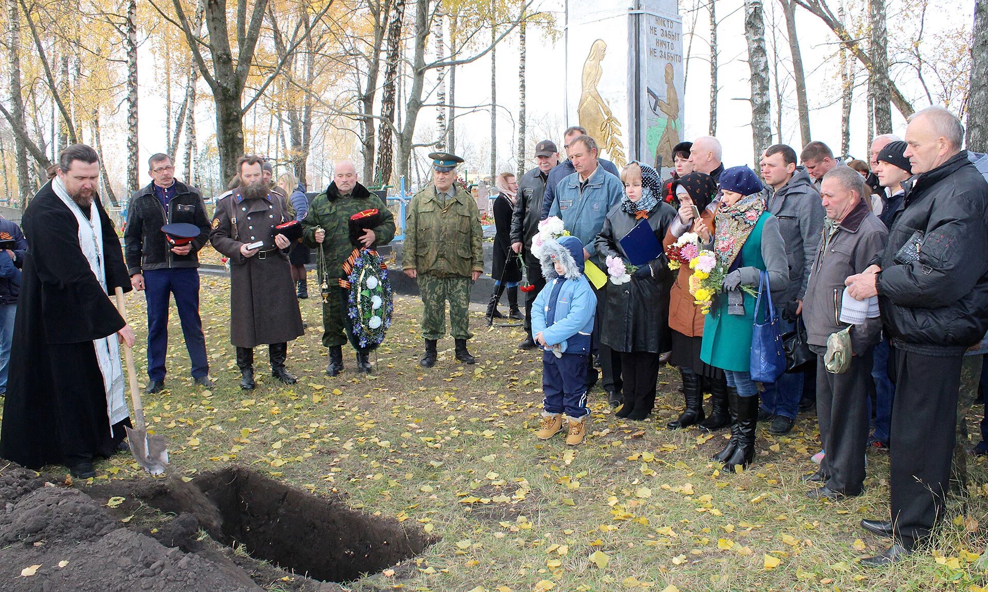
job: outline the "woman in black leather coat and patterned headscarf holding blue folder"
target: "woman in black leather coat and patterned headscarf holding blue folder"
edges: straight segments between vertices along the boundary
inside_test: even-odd
[[[655,169],[632,162],[620,174],[624,198],[604,221],[595,246],[601,257],[615,257],[628,263],[620,244],[635,225],[644,220],[661,245],[676,210],[662,201],[662,182]],[[651,259],[631,273],[629,281],[608,286],[607,307],[601,322],[601,342],[620,354],[623,378],[623,407],[618,417],[644,419],[655,407],[655,382],[659,356],[668,351],[669,290],[672,272],[665,253]]]

